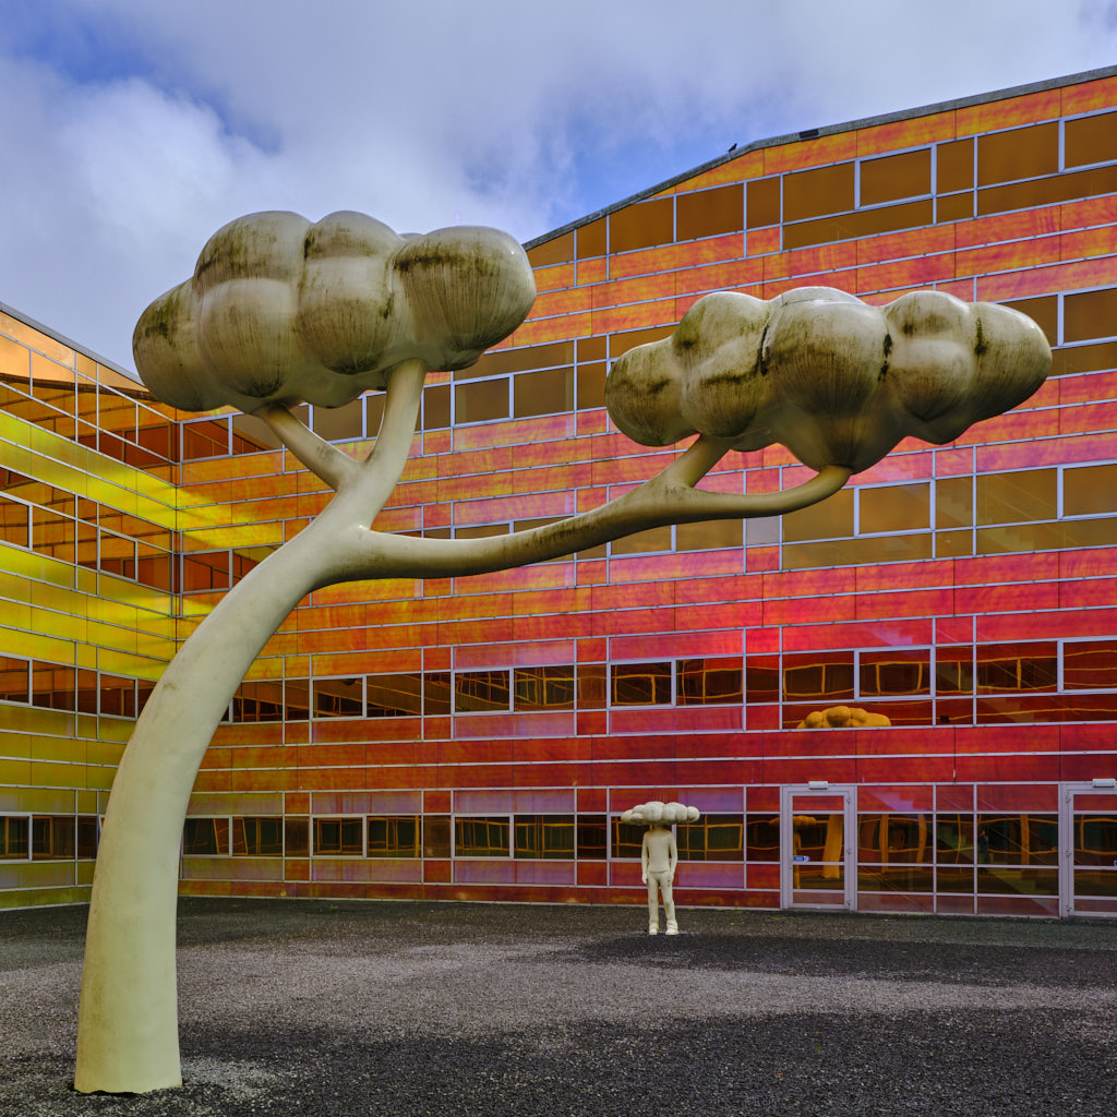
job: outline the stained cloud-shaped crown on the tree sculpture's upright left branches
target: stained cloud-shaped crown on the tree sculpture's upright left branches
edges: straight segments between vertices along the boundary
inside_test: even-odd
[[[340,407],[401,361],[472,364],[534,298],[527,256],[497,229],[400,237],[363,213],[250,213],[144,311],[132,346],[144,384],[187,411]]]

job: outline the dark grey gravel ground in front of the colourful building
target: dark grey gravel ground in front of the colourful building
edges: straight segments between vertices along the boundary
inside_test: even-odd
[[[185,1085],[78,1095],[84,908],[0,914],[0,1115],[1117,1115],[1117,923],[183,899]]]

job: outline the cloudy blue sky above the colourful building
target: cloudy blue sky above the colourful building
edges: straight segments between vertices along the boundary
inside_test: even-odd
[[[772,136],[1117,63],[1117,0],[0,0],[0,303],[126,370],[242,213],[521,240]]]

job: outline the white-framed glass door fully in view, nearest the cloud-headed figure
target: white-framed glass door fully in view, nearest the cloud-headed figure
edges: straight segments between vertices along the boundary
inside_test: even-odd
[[[782,907],[852,911],[853,791],[784,787],[780,811]]]

